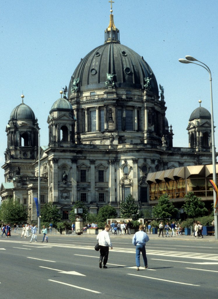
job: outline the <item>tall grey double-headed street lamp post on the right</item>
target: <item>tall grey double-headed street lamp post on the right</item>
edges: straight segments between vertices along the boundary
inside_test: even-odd
[[[216,173],[216,149],[215,149],[215,139],[214,139],[214,112],[213,112],[213,95],[212,95],[212,77],[211,77],[211,70],[208,68],[208,66],[195,59],[194,57],[187,55],[185,56],[186,59],[179,59],[179,62],[181,63],[194,63],[196,65],[201,66],[202,68],[205,68],[206,71],[208,71],[209,75],[210,75],[210,88],[211,88],[211,139],[212,139],[212,164],[213,164],[213,181],[214,183],[217,185],[217,173]],[[193,62],[193,61],[197,61],[199,63]],[[216,192],[214,190],[214,206],[216,205]],[[217,217],[217,213],[214,213],[214,223],[215,223],[215,239],[218,239],[218,223],[217,223],[218,217]]]

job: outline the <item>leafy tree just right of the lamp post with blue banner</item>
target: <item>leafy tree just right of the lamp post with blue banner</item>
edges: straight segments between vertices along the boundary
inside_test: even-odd
[[[61,220],[61,215],[56,205],[52,202],[48,202],[41,206],[41,221],[42,222],[52,222],[55,226],[57,222]]]

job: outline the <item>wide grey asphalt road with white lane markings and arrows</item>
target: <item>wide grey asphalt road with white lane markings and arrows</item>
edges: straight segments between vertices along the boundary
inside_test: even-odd
[[[111,236],[108,269],[99,269],[96,236],[49,236],[48,243],[0,237],[1,299],[217,298],[218,242],[152,236],[136,271],[132,236]]]

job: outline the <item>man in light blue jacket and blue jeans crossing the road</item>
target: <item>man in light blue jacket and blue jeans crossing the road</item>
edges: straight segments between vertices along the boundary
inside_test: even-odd
[[[140,253],[144,260],[145,269],[148,268],[148,260],[146,257],[145,244],[149,241],[148,235],[143,231],[143,225],[139,225],[139,231],[133,236],[133,245],[136,246],[136,270],[140,267]]]

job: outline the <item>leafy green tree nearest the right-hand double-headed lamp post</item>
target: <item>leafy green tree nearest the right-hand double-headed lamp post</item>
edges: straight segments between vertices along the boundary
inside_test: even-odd
[[[188,195],[185,195],[185,204],[182,206],[185,213],[188,217],[195,219],[200,216],[204,216],[208,210],[205,208],[205,203],[202,202],[200,197],[194,195],[194,192],[189,192]]]

